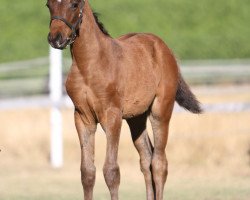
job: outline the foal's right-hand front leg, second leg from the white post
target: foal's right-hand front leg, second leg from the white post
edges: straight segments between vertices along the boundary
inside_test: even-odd
[[[120,169],[117,163],[117,155],[122,125],[121,111],[118,108],[108,109],[101,125],[107,137],[106,159],[103,166],[103,174],[111,194],[111,199],[117,200],[120,185]]]

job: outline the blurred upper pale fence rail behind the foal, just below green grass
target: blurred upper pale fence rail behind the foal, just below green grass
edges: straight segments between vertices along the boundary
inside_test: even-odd
[[[63,60],[65,75],[70,63]],[[250,83],[250,60],[185,61],[180,66],[189,84]],[[0,64],[0,99],[48,94],[48,79],[48,58]]]

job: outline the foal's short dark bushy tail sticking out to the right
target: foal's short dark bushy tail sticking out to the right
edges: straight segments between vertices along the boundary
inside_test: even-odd
[[[179,73],[178,89],[176,92],[175,100],[181,107],[185,108],[186,110],[192,113],[195,113],[195,114],[202,113],[200,102],[196,99],[195,95],[191,92],[189,86],[184,81],[180,73]]]

